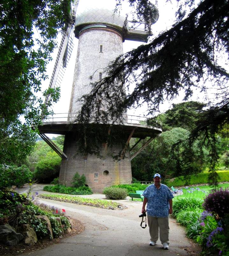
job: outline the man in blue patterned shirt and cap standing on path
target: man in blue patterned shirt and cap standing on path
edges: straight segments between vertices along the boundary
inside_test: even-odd
[[[149,225],[150,243],[149,245],[156,245],[158,240],[158,233],[160,233],[160,240],[163,248],[168,250],[168,214],[172,214],[172,199],[173,194],[169,188],[161,184],[161,175],[156,173],[154,175],[154,184],[148,186],[144,193],[142,213],[146,212]]]

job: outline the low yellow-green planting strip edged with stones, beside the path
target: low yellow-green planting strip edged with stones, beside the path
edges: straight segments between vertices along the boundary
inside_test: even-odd
[[[75,204],[89,204],[89,206],[94,206],[94,207],[109,208],[109,206],[111,206],[113,208],[117,208],[119,205],[118,203],[113,202],[111,200],[102,200],[102,199],[96,199],[96,198],[83,198],[80,196],[41,194],[41,195],[39,195],[39,197],[51,199],[51,200],[57,200],[57,201],[71,202],[71,203],[75,203]]]

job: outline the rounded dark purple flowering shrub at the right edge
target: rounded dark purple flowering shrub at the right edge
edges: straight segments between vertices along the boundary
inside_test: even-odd
[[[229,214],[229,190],[214,190],[205,197],[203,207],[206,211],[214,213],[216,218],[223,218]]]

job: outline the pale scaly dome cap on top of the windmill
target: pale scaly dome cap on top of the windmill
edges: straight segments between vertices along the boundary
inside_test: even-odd
[[[83,27],[92,24],[111,25],[122,30],[125,18],[113,10],[91,8],[86,9],[75,17],[75,29],[80,31]]]

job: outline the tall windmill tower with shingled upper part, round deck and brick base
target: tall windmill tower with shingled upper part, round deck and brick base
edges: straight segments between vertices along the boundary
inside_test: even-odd
[[[152,24],[157,19],[158,11],[155,8]],[[62,157],[59,176],[59,182],[61,184],[71,185],[72,178],[76,172],[86,176],[87,185],[93,191],[102,191],[104,187],[114,184],[131,183],[131,160],[161,133],[161,130],[158,128],[134,124],[126,120],[122,126],[122,131],[125,134],[125,146],[123,147],[118,142],[114,142],[112,145],[113,154],[122,152],[118,161],[110,156],[109,150],[111,149],[106,141],[100,145],[102,158],[98,158],[95,155],[85,157],[76,154],[79,140],[77,126],[79,124],[75,122],[75,118],[82,106],[82,102],[79,99],[91,91],[90,82],[102,79],[105,76],[103,70],[108,64],[123,54],[123,42],[125,40],[147,41],[147,32],[144,28],[140,29],[140,26],[142,24],[144,25],[143,22],[137,25],[134,24],[133,26],[128,22],[126,25],[127,33],[125,35],[123,33],[124,22],[125,18],[115,14],[112,10],[102,8],[88,8],[75,16],[75,37],[79,41],[68,119],[67,121],[45,122],[40,127],[40,133],[43,139]],[[89,77],[92,75],[93,78],[91,81]],[[103,102],[101,101],[101,108],[103,107]],[[111,132],[109,125],[97,125],[102,127],[104,134]],[[116,132],[118,132],[118,127],[118,125],[113,125],[112,129],[116,129]],[[50,142],[44,133],[64,134],[63,152]],[[90,134],[87,136],[90,136]],[[132,137],[139,138],[139,141],[146,137],[150,137],[150,139],[138,152],[131,156],[129,142]]]

